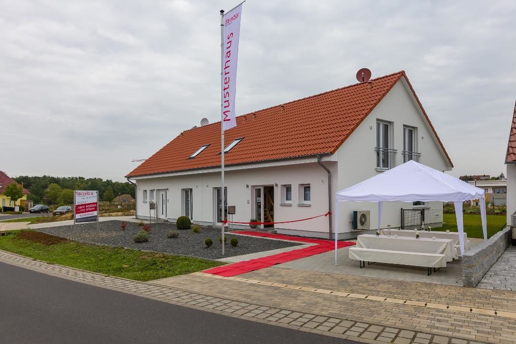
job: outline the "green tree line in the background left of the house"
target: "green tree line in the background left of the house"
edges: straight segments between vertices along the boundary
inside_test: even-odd
[[[30,191],[27,199],[39,204],[73,204],[73,190],[98,190],[100,200],[111,202],[119,194],[135,196],[134,185],[113,182],[110,179],[84,177],[19,176],[14,178]]]

